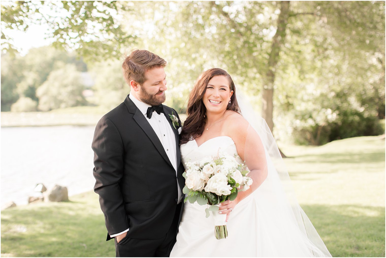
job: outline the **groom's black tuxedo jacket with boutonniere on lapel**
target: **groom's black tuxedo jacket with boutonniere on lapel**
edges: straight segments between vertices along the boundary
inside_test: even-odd
[[[171,226],[178,200],[176,178],[181,190],[185,179],[178,127],[174,129],[168,115],[178,114],[163,107],[175,135],[177,177],[156,133],[129,95],[97,124],[92,143],[94,190],[105,214],[107,240],[127,228],[129,238],[159,239]]]

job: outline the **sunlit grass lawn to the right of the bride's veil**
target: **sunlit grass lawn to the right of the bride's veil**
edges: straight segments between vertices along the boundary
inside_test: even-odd
[[[332,256],[385,256],[385,141],[281,146],[298,201]]]

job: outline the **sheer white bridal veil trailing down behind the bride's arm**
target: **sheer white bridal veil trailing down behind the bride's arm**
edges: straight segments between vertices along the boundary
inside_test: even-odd
[[[252,193],[257,216],[257,256],[331,257],[296,200],[288,171],[267,123],[255,114],[243,94],[238,92],[237,99],[243,117],[249,122],[244,148],[246,165],[259,162],[254,160],[256,142],[259,140],[264,146],[267,160],[267,178]]]

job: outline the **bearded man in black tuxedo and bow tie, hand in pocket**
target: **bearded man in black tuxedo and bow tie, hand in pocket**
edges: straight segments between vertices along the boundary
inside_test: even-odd
[[[94,190],[117,257],[169,257],[176,241],[185,181],[181,122],[162,105],[165,66],[156,54],[132,51],[122,64],[130,94],[95,128]]]

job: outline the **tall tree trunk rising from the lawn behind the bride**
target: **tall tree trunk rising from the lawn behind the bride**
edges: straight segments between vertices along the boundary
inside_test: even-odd
[[[266,120],[269,129],[273,131],[273,90],[275,83],[276,64],[279,61],[281,46],[286,36],[286,26],[289,17],[289,1],[281,1],[278,28],[272,39],[271,53],[269,53],[268,70],[265,85],[262,90],[262,117]],[[280,151],[280,150],[279,150]],[[285,155],[280,151],[281,156]]]

